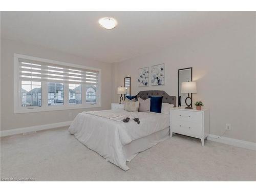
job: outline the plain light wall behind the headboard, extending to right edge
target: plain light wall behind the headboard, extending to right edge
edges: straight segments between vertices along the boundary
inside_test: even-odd
[[[193,80],[197,81],[193,103],[202,100],[210,110],[210,134],[222,135],[225,124],[231,123],[226,137],[256,142],[255,14],[229,19],[230,25],[204,36],[114,63],[112,102],[118,102],[116,89],[123,86],[125,76],[131,76],[132,95],[142,90],[164,90],[178,97],[178,69],[193,67]],[[165,63],[165,85],[138,87],[138,69],[160,63]]]

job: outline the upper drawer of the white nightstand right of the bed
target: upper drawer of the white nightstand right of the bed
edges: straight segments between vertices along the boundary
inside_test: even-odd
[[[202,113],[183,110],[172,110],[172,119],[178,121],[202,123]]]

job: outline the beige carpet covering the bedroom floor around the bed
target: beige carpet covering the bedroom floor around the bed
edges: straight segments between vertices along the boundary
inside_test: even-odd
[[[256,152],[176,135],[139,153],[124,172],[67,127],[1,138],[1,178],[36,181],[256,181]]]

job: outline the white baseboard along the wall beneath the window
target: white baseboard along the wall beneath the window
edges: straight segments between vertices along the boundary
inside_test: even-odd
[[[33,131],[53,129],[61,126],[68,126],[71,123],[72,121],[65,121],[65,122],[59,122],[59,123],[29,126],[29,127],[18,128],[18,129],[4,130],[4,131],[1,131],[0,134],[1,134],[1,137],[9,136],[9,135],[17,135],[17,134],[28,133]]]

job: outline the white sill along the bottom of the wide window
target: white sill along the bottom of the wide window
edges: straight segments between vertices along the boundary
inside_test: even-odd
[[[90,109],[90,108],[100,108],[101,104],[92,104],[92,105],[80,105],[80,106],[47,106],[42,108],[37,106],[33,109],[14,109],[13,113],[34,113],[34,112],[47,112],[47,111],[60,111],[60,110],[77,110],[77,109]]]

